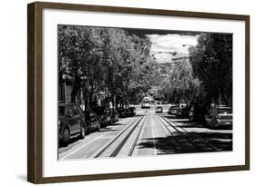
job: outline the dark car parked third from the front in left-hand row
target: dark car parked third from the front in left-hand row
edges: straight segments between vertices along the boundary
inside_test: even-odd
[[[92,109],[99,116],[100,127],[105,127],[111,123],[111,112],[104,106],[97,106]]]

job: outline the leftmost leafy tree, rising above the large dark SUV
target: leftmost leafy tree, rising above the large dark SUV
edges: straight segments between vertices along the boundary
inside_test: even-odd
[[[65,79],[73,82],[72,102],[75,102],[77,91],[83,89],[88,107],[92,103],[96,84],[103,81],[101,54],[98,50],[106,45],[107,38],[100,37],[100,34],[100,28],[58,26],[59,83]]]

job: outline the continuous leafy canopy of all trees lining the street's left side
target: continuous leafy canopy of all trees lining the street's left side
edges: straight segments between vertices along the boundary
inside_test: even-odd
[[[72,81],[73,96],[82,89],[88,105],[100,92],[113,102],[135,99],[147,92],[156,69],[148,37],[123,29],[59,25],[58,47],[59,81]]]

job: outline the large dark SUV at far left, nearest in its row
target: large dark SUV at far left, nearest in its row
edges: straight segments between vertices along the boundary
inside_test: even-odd
[[[58,104],[58,139],[67,144],[70,138],[79,136],[85,138],[89,126],[85,122],[84,113],[75,103]]]

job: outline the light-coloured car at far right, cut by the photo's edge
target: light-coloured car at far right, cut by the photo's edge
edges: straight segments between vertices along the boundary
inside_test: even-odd
[[[213,108],[210,108],[209,112],[205,115],[205,121],[211,129],[214,129],[219,126],[232,126],[232,108],[219,105]]]

